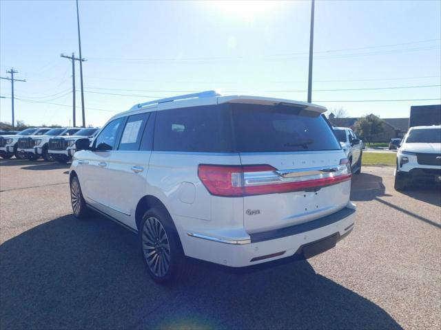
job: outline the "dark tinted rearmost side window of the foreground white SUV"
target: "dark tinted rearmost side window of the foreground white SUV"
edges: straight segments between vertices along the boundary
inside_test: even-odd
[[[227,104],[156,113],[155,151],[232,152]]]

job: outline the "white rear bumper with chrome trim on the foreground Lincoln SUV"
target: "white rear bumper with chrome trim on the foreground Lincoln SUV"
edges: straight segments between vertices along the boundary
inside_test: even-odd
[[[196,232],[180,236],[187,256],[230,267],[247,267],[289,256],[310,258],[325,252],[351,232],[355,215],[355,208],[347,207],[327,217],[251,234],[248,238]]]

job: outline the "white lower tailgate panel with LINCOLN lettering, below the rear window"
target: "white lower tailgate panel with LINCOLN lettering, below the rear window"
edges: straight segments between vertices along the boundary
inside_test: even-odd
[[[268,164],[275,170],[245,173],[245,184],[271,186],[268,193],[244,197],[244,225],[249,233],[284,228],[325,217],[344,208],[351,191],[341,151],[240,154],[243,166]],[[341,181],[338,177],[342,177]],[[278,189],[280,187],[280,189]],[[286,187],[286,188],[283,188]],[[294,191],[289,191],[294,190]]]

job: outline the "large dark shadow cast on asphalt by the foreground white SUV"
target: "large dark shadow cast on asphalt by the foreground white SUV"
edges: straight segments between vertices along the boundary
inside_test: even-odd
[[[0,245],[0,329],[401,329],[382,308],[296,261],[247,274],[191,265],[147,276],[137,238],[103,217],[60,217]]]

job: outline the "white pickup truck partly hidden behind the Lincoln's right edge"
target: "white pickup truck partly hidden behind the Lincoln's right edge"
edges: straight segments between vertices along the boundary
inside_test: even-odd
[[[348,127],[333,127],[338,142],[347,155],[347,159],[351,163],[351,170],[354,174],[361,172],[361,157],[362,157],[362,140],[357,138],[356,133],[353,133]]]

